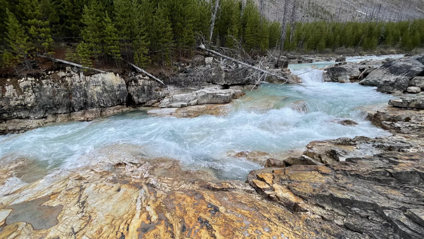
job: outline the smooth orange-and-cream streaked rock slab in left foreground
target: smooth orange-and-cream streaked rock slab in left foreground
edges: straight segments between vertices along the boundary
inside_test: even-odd
[[[128,149],[126,160],[119,154],[109,160],[112,169],[61,170],[0,197],[2,237],[361,238],[273,205],[247,183],[183,171],[176,160],[145,159]],[[96,154],[108,152],[116,149]]]

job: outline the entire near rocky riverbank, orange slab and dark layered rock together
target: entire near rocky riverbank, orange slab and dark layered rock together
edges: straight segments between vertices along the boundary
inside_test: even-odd
[[[371,122],[393,132],[389,137],[313,141],[300,157],[235,154],[266,160],[265,169],[250,172],[246,183],[184,171],[178,161],[148,158],[133,145],[96,149],[80,159],[90,166],[26,182],[18,177],[30,161],[2,165],[0,234],[3,238],[421,238],[424,102],[420,97],[398,101],[391,101],[396,107],[362,109]],[[409,101],[418,104],[403,108]]]

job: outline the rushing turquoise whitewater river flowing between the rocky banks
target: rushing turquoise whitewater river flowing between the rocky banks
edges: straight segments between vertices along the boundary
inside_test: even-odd
[[[323,65],[289,67],[300,74]],[[229,151],[279,154],[303,149],[313,140],[389,135],[365,121],[355,108],[386,103],[391,96],[356,83],[321,82],[322,70],[314,69],[299,76],[307,87],[264,83],[259,90],[246,91],[246,96],[235,100],[232,112],[226,116],[154,117],[137,111],[3,135],[0,157],[3,161],[29,158],[53,171],[86,165],[80,157],[100,147],[133,144],[142,146],[149,157],[180,160],[185,169],[209,169],[222,179],[245,180],[250,170],[261,166],[243,158],[228,157]],[[299,101],[306,102],[309,112],[289,107]],[[347,127],[334,122],[343,118],[353,119],[359,125]]]

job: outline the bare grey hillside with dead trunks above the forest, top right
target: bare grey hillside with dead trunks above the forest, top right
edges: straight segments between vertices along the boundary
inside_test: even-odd
[[[281,21],[295,8],[296,21],[399,21],[424,18],[424,0],[254,0],[269,20]]]

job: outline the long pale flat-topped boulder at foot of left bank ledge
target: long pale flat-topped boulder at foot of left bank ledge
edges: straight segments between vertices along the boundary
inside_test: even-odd
[[[233,99],[245,95],[241,90],[220,90],[207,88],[187,94],[178,94],[165,97],[160,101],[159,107],[186,107],[195,104],[221,104],[229,103]]]

